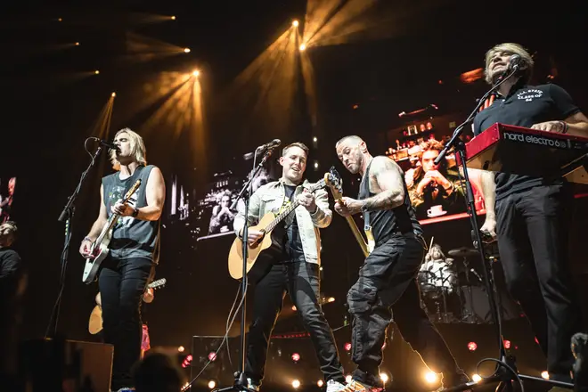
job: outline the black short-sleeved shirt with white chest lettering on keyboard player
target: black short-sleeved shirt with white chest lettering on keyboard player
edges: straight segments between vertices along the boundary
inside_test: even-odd
[[[510,94],[500,97],[474,118],[474,135],[494,123],[530,128],[534,124],[563,120],[576,114],[578,107],[563,88],[556,85],[513,86]],[[496,173],[496,200],[510,193],[526,191],[542,184],[560,184],[563,180]]]

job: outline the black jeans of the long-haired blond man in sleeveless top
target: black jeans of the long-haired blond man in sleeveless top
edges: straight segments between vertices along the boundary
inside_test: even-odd
[[[114,345],[111,388],[132,387],[131,368],[141,357],[141,300],[152,273],[148,258],[115,259],[102,262],[98,278],[102,298],[104,342]]]

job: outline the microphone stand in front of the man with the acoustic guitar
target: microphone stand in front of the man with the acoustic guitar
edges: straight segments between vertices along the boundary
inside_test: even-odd
[[[233,387],[228,387],[228,388],[222,388],[222,389],[216,389],[216,392],[225,392],[225,391],[230,391],[230,390],[235,390],[235,391],[249,391],[249,392],[255,392],[249,388],[247,388],[247,377],[245,376],[245,357],[247,355],[247,339],[245,336],[245,323],[246,323],[246,315],[247,315],[247,310],[246,310],[246,301],[245,301],[245,296],[247,294],[247,258],[249,257],[249,244],[247,242],[248,236],[249,236],[249,225],[248,225],[248,216],[249,216],[249,199],[251,198],[251,184],[253,183],[253,180],[255,179],[255,177],[257,176],[257,174],[259,173],[259,171],[261,170],[262,167],[264,167],[265,162],[267,162],[267,159],[269,159],[269,157],[272,155],[272,152],[274,152],[274,148],[277,147],[276,146],[270,146],[265,150],[265,154],[264,157],[261,159],[261,161],[259,162],[259,164],[256,166],[256,158],[257,158],[257,151],[259,149],[257,149],[253,156],[253,173],[251,174],[251,176],[249,177],[249,181],[247,183],[245,183],[243,185],[243,188],[241,189],[241,192],[239,192],[239,195],[237,196],[237,199],[233,201],[233,205],[231,206],[230,209],[235,209],[237,206],[237,202],[242,199],[245,203],[245,211],[244,211],[244,216],[245,216],[245,225],[243,225],[243,229],[241,231],[241,241],[242,241],[242,255],[243,255],[243,272],[242,272],[242,278],[241,278],[241,301],[242,301],[242,305],[241,305],[241,346],[239,347],[241,353],[239,355],[239,369],[237,372],[234,373],[234,384]]]

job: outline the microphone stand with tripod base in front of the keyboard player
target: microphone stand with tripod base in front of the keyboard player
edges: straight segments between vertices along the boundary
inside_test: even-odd
[[[465,196],[466,196],[468,213],[470,215],[470,225],[472,227],[474,240],[476,242],[478,242],[478,244],[483,243],[482,242],[482,233],[480,233],[479,226],[478,226],[478,215],[476,213],[476,202],[474,200],[474,192],[472,190],[470,176],[468,174],[465,143],[463,143],[460,136],[461,136],[461,134],[463,134],[463,130],[465,129],[465,127],[470,125],[470,123],[476,117],[476,114],[478,114],[479,108],[482,107],[482,105],[486,101],[486,98],[488,98],[488,96],[490,96],[490,94],[493,94],[496,90],[498,90],[499,86],[502,86],[502,84],[506,80],[513,77],[518,71],[519,71],[519,64],[515,64],[512,67],[512,69],[507,69],[507,71],[504,74],[502,74],[502,77],[498,79],[497,83],[490,90],[488,90],[488,92],[486,94],[484,94],[484,96],[478,101],[478,105],[476,106],[476,108],[474,110],[472,110],[472,112],[470,113],[470,116],[468,116],[468,118],[466,118],[466,120],[463,121],[463,123],[461,123],[461,125],[459,127],[455,128],[455,131],[453,131],[453,135],[452,135],[451,139],[445,144],[444,149],[439,153],[439,155],[437,156],[437,159],[435,159],[435,164],[438,165],[439,162],[445,158],[447,151],[450,151],[452,149],[455,152],[455,154],[457,155],[457,158],[459,158],[456,160],[461,163],[461,167],[463,169],[463,179],[464,179],[464,184],[466,187],[466,195]],[[521,387],[522,387],[522,380],[536,380],[536,381],[548,382],[554,386],[559,386],[559,387],[564,387],[564,388],[574,388],[574,386],[572,384],[569,384],[566,382],[559,382],[559,381],[554,381],[554,380],[543,380],[543,379],[537,378],[537,377],[519,375],[519,372],[517,371],[517,367],[516,367],[516,363],[515,363],[516,358],[513,355],[506,355],[506,348],[504,347],[504,340],[502,339],[502,318],[501,318],[500,312],[498,311],[498,306],[496,305],[497,299],[496,299],[496,293],[494,290],[494,282],[491,277],[492,275],[488,271],[489,269],[492,270],[492,265],[486,264],[486,255],[485,255],[484,247],[477,246],[476,248],[478,249],[478,253],[479,253],[479,257],[482,262],[482,265],[484,265],[484,269],[483,269],[484,270],[484,283],[486,285],[486,292],[488,293],[488,303],[490,306],[490,315],[492,317],[492,322],[496,326],[496,339],[498,339],[498,344],[499,344],[499,358],[485,360],[485,361],[492,361],[492,362],[496,363],[496,370],[494,371],[494,374],[492,374],[491,376],[486,377],[486,378],[478,381],[478,383],[476,383],[474,381],[470,381],[466,384],[462,384],[460,386],[456,386],[453,388],[445,388],[444,392],[453,392],[453,391],[457,392],[457,391],[470,390],[475,387],[483,386],[486,384],[491,384],[494,382],[499,383],[495,389],[496,391],[512,392],[514,390],[513,389],[513,385],[514,385],[513,381],[514,380],[517,380],[519,382],[519,384],[521,385]],[[483,362],[485,362],[485,361],[483,361]],[[524,390],[523,388],[521,388],[521,389]]]

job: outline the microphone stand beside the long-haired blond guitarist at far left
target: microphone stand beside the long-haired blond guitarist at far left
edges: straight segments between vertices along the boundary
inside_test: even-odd
[[[86,139],[86,142],[89,139],[90,138]],[[45,331],[45,339],[54,338],[57,335],[57,323],[59,320],[59,314],[61,310],[61,295],[63,294],[63,288],[65,287],[65,275],[68,266],[69,241],[71,241],[71,220],[73,219],[74,212],[76,209],[74,203],[78,198],[79,191],[82,189],[82,184],[84,183],[84,180],[86,179],[88,172],[92,167],[94,167],[96,158],[98,158],[101,152],[102,147],[98,146],[98,149],[96,149],[94,155],[90,154],[90,156],[92,157],[92,160],[90,160],[90,164],[82,173],[82,176],[80,177],[78,182],[78,186],[74,190],[73,194],[69,196],[68,202],[61,211],[61,215],[57,219],[59,222],[65,221],[65,241],[63,244],[63,250],[61,251],[61,274],[59,278],[59,292],[57,294],[57,299],[55,300],[55,305],[53,305],[53,311],[51,313],[51,318],[49,319],[49,324],[47,325],[47,329]]]

